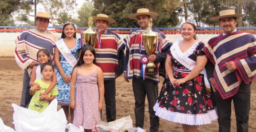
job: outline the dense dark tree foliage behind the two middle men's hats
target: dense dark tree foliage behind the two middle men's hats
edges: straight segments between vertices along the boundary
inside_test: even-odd
[[[153,19],[155,27],[168,27],[180,24],[179,14],[183,3],[180,0],[92,0],[96,10],[93,15],[106,14],[116,20],[111,27],[137,27],[136,20],[128,18],[136,13],[138,8],[148,8],[150,12],[158,13]]]

